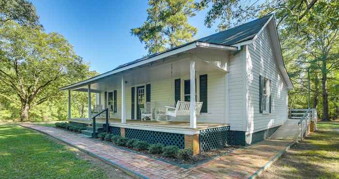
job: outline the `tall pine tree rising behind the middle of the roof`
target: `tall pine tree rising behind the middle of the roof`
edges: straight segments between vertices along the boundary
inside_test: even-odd
[[[147,20],[131,34],[145,44],[149,54],[181,45],[193,39],[197,29],[188,24],[188,17],[200,10],[194,0],[149,0]]]

